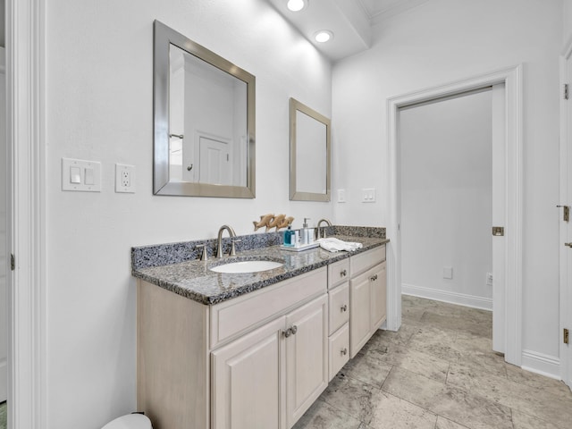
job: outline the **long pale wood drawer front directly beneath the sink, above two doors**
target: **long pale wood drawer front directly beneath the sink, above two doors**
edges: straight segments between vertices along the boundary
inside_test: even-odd
[[[211,308],[210,349],[324,293],[326,288],[327,270],[323,267],[214,305]]]

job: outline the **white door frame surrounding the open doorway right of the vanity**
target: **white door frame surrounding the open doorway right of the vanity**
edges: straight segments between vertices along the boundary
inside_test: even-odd
[[[505,360],[522,365],[522,65],[425,88],[387,100],[388,123],[388,311],[387,327],[396,331],[401,325],[401,201],[399,109],[442,97],[451,97],[478,88],[505,84]],[[494,327],[493,327],[494,329]]]

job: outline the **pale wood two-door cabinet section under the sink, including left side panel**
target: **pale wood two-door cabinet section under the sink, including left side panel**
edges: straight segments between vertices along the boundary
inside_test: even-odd
[[[214,306],[138,289],[138,407],[154,429],[290,428],[328,384],[327,269]]]

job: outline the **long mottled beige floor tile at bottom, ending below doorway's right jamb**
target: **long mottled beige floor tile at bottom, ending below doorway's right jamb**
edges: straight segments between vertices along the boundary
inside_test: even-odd
[[[383,383],[387,391],[471,429],[513,429],[510,408],[468,391],[394,367]]]

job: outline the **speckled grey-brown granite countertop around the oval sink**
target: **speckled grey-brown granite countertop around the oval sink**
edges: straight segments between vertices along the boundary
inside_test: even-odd
[[[384,234],[383,234],[384,235]],[[146,282],[156,284],[178,295],[193,299],[205,305],[214,305],[226,299],[236,298],[253,290],[270,286],[277,282],[290,279],[302,273],[332,264],[341,259],[357,255],[371,248],[387,243],[389,240],[381,237],[355,237],[334,235],[341,240],[362,243],[363,248],[353,252],[329,252],[323,248],[311,248],[294,252],[284,250],[279,245],[265,246],[240,250],[237,248],[236,257],[209,257],[207,261],[197,258],[167,265],[141,266],[133,257],[133,276]],[[148,248],[133,248],[135,255],[138,250]],[[210,271],[214,265],[228,264],[234,261],[253,259],[282,262],[283,265],[273,270],[258,273],[215,273]]]

